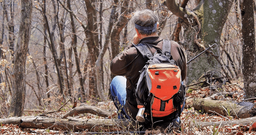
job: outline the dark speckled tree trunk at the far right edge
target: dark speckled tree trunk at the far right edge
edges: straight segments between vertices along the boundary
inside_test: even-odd
[[[255,59],[255,28],[253,0],[241,1],[240,10],[242,16],[243,34],[243,64],[245,98],[256,96],[256,59]]]

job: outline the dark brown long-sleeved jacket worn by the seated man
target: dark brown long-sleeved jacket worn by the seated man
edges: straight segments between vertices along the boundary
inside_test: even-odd
[[[155,53],[156,49],[162,50],[163,46],[163,40],[159,36],[143,38],[140,40],[140,43],[144,43],[151,50],[152,54]],[[187,74],[186,58],[181,46],[174,41],[171,41],[171,55],[176,65],[181,69],[181,79],[183,81]],[[127,79],[127,94],[124,108],[126,114],[131,115],[134,120],[136,120],[135,117],[139,110],[135,96],[135,84],[140,76],[139,71],[146,62],[147,59],[144,59],[140,52],[131,44],[123,52],[116,55],[110,64],[110,70],[114,75],[125,76]]]

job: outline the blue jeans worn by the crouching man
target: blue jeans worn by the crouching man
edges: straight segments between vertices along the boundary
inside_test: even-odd
[[[114,77],[112,82],[110,83],[110,92],[112,95],[112,100],[118,112],[118,119],[130,118],[124,111],[124,105],[126,101],[126,78],[124,76]],[[183,111],[184,106],[185,106],[185,100],[181,108],[181,112]],[[180,123],[180,117],[178,116],[178,114],[176,117],[177,118],[172,120],[172,122],[176,121]]]

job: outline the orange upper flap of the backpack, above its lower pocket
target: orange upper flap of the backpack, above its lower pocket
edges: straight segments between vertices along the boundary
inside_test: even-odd
[[[172,98],[180,89],[180,68],[170,63],[149,65],[146,82],[150,93],[161,100]]]

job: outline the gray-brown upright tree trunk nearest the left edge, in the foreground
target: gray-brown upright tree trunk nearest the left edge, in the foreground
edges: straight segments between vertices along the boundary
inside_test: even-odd
[[[32,21],[32,0],[21,1],[20,31],[13,67],[12,101],[8,117],[22,116],[26,98],[25,73]]]

